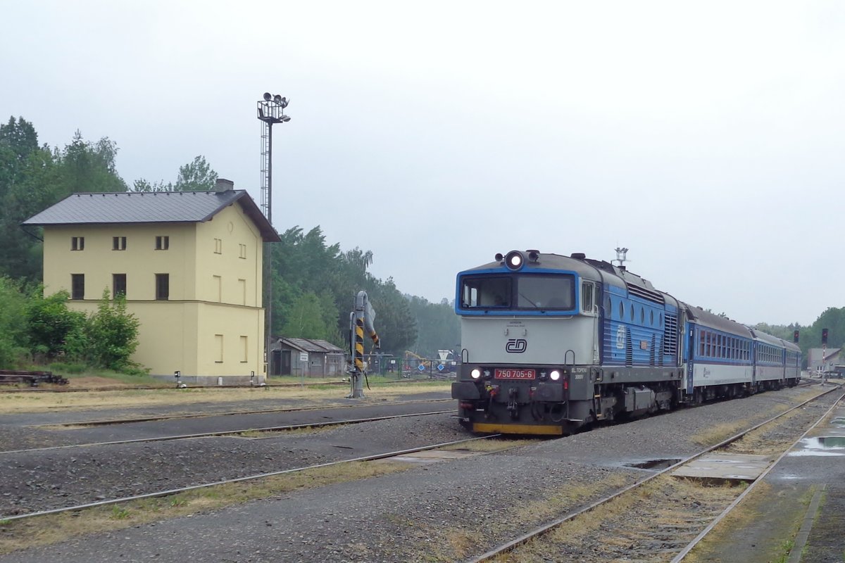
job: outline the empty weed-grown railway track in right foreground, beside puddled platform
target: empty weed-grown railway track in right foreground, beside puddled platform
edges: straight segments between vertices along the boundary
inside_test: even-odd
[[[689,480],[675,479],[671,474],[681,466],[706,455],[738,444],[765,425],[787,420],[788,415],[799,412],[808,403],[831,392],[841,392],[837,387],[810,398],[781,414],[744,430],[715,446],[702,449],[689,457],[673,463],[612,495],[592,502],[553,522],[524,533],[519,538],[478,555],[468,563],[486,561],[521,560],[649,560],[679,563],[721,522],[772,468],[810,430],[837,407],[845,398],[840,395],[830,409],[801,435],[780,444],[779,455],[751,485],[710,487],[706,494],[703,487]],[[709,484],[712,485],[712,484]],[[675,502],[673,502],[675,501]],[[580,528],[580,530],[579,530]]]

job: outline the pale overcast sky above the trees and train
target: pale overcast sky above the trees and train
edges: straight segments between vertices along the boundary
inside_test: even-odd
[[[0,0],[0,118],[203,154],[277,230],[320,225],[405,293],[496,252],[611,260],[740,322],[845,306],[845,3]],[[85,187],[80,187],[85,191]]]

